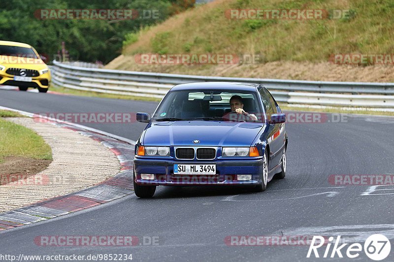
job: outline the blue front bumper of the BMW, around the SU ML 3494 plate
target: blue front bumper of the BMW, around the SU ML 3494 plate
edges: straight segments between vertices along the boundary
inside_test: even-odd
[[[216,164],[215,175],[174,175],[174,164]],[[262,183],[263,158],[244,160],[179,161],[173,159],[134,159],[135,182],[139,185],[258,185]],[[154,174],[154,180],[140,174]],[[238,181],[236,175],[252,175],[252,180]]]

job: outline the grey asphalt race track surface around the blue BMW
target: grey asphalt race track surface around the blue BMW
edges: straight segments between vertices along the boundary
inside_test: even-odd
[[[0,90],[0,106],[31,113],[153,112],[154,102]],[[328,119],[333,119],[331,114]],[[132,254],[133,261],[349,261],[306,259],[309,246],[229,246],[229,236],[348,236],[391,239],[394,186],[335,186],[329,175],[394,174],[394,117],[348,115],[334,123],[288,123],[288,171],[262,193],[241,188],[158,187],[60,218],[0,233],[0,254]],[[84,123],[136,140],[144,124]],[[368,191],[369,190],[369,191]],[[375,191],[374,191],[375,190]],[[369,193],[366,193],[369,192]],[[134,235],[158,245],[39,246],[40,235]],[[146,241],[149,242],[149,241]],[[363,242],[361,242],[363,243]],[[323,256],[325,247],[319,249]],[[332,247],[331,247],[332,249]],[[330,252],[331,253],[331,252]],[[329,254],[330,254],[329,253]],[[363,252],[351,261],[372,261]]]

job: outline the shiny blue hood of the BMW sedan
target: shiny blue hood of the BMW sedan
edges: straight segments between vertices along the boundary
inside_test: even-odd
[[[263,123],[173,121],[150,123],[142,134],[144,146],[251,146]],[[199,140],[194,144],[194,140]]]

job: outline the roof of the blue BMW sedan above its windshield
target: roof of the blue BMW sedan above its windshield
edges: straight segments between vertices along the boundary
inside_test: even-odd
[[[259,84],[253,83],[235,83],[235,82],[197,82],[176,85],[171,88],[171,91],[175,90],[192,90],[192,89],[229,89],[229,90],[244,90],[244,91],[255,91]]]

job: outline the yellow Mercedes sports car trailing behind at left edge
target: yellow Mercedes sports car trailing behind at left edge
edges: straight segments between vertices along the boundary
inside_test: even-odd
[[[29,87],[46,93],[51,73],[35,49],[24,43],[0,41],[0,85]]]

